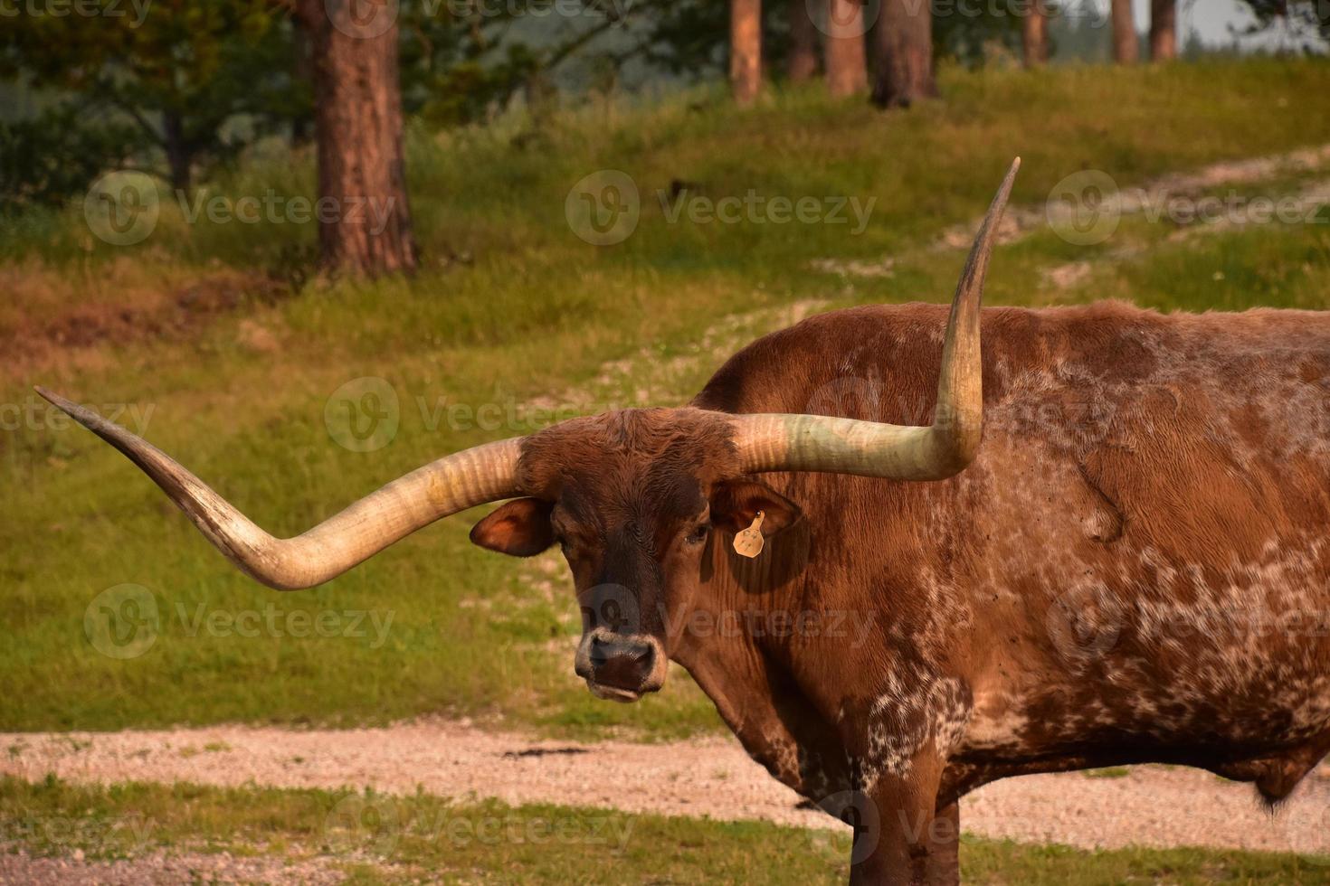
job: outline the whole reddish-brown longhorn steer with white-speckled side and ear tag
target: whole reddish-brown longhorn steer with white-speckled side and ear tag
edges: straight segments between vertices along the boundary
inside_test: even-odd
[[[1015,169],[950,319],[815,316],[686,408],[442,458],[295,539],[45,396],[279,588],[512,498],[472,539],[563,546],[591,691],[684,665],[771,774],[858,818],[855,882],[955,883],[956,801],[1007,776],[1161,761],[1277,801],[1330,749],[1330,319],[980,312]]]

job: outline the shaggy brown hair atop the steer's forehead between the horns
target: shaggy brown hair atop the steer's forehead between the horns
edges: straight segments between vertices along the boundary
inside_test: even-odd
[[[733,433],[724,416],[704,409],[571,418],[523,441],[517,476],[529,494],[569,506],[613,498],[689,510],[713,482],[739,473]]]

